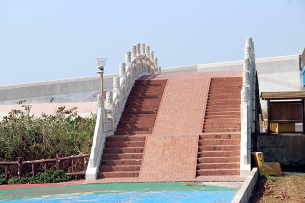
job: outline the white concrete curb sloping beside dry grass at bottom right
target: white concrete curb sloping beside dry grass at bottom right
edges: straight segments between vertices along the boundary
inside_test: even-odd
[[[237,194],[235,195],[231,203],[248,203],[252,195],[253,188],[257,182],[257,177],[258,177],[257,168],[253,168],[248,178],[246,179],[245,183],[243,183],[241,188],[238,190]]]

